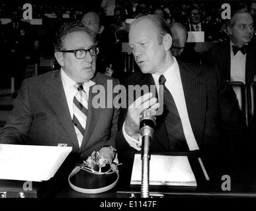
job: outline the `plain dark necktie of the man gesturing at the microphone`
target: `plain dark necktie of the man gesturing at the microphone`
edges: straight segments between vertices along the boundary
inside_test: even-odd
[[[163,115],[165,119],[165,126],[167,129],[169,144],[172,152],[189,151],[187,141],[184,135],[181,117],[177,110],[176,104],[173,100],[171,92],[165,86],[165,76],[161,75],[159,78],[159,96],[163,92]]]

